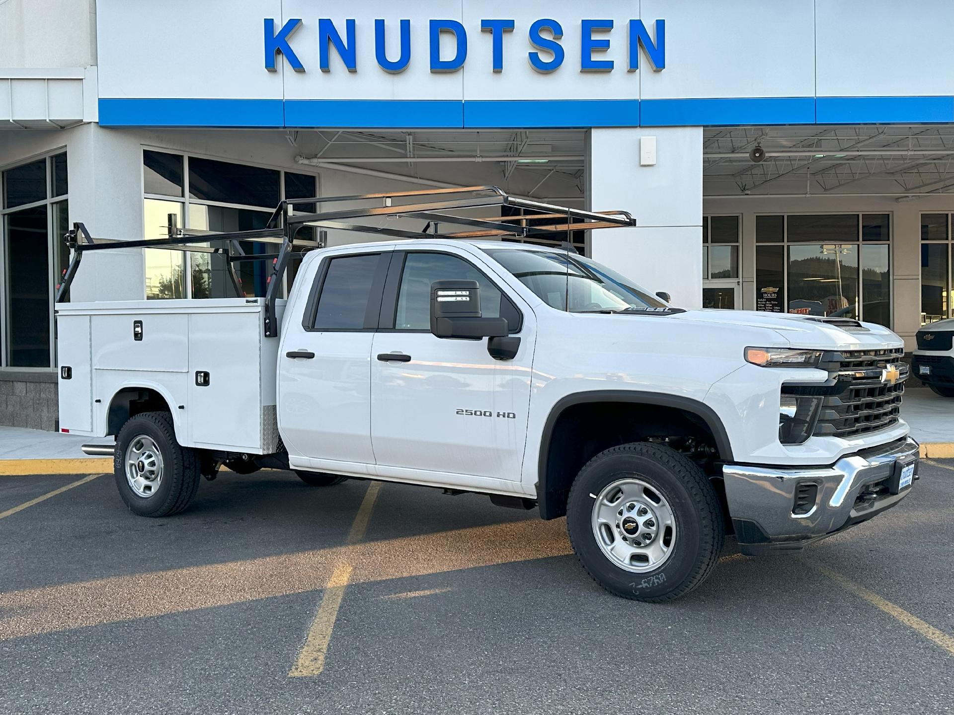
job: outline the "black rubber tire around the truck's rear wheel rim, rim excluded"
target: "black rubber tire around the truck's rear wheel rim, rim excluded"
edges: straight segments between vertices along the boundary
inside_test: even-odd
[[[140,437],[151,439],[162,459],[158,485],[146,497],[136,494],[126,478],[126,452]],[[182,511],[196,496],[201,480],[196,450],[179,446],[168,412],[144,412],[122,426],[116,438],[113,471],[119,496],[140,517],[169,517]]]

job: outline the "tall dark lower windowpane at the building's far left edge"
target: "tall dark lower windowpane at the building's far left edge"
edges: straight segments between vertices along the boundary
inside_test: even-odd
[[[45,163],[45,160],[44,160]],[[50,251],[47,206],[6,217],[7,364],[50,367]]]

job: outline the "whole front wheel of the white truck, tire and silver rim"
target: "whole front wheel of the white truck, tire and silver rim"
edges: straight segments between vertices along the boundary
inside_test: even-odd
[[[580,470],[567,528],[596,582],[648,603],[672,601],[703,582],[725,533],[702,470],[669,447],[643,442],[601,452]]]

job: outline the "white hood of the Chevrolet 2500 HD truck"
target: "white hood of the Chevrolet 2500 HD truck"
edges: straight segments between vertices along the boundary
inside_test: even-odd
[[[700,323],[718,323],[727,328],[745,326],[774,331],[794,348],[819,350],[884,350],[900,348],[904,341],[892,331],[877,323],[862,323],[846,318],[798,316],[787,313],[759,311],[691,310],[670,317],[672,320],[691,320]],[[843,321],[843,327],[838,324]],[[949,322],[954,323],[954,320]],[[861,327],[859,327],[861,326]]]

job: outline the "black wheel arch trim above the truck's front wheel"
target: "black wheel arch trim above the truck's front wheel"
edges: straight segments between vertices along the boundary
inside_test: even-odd
[[[718,417],[713,408],[697,399],[635,390],[594,390],[573,393],[559,399],[550,409],[540,439],[536,492],[542,519],[556,519],[566,513],[566,493],[569,491],[569,484],[566,483],[566,475],[557,473],[550,460],[554,431],[567,410],[581,405],[597,405],[600,403],[608,405],[624,404],[633,408],[640,406],[664,408],[683,415],[695,416],[695,419],[701,421],[711,433],[719,459],[725,461],[733,459],[732,443],[722,419]]]

